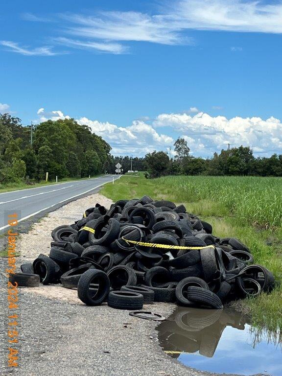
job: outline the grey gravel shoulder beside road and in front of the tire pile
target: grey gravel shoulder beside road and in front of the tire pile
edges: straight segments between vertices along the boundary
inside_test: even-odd
[[[53,211],[35,223],[17,243],[20,263],[33,260],[39,253],[48,254],[51,230],[80,218],[84,210],[96,202],[109,207],[111,200],[93,194],[73,201]],[[1,278],[7,265],[0,258]],[[2,286],[5,283],[1,284]],[[0,289],[0,345],[7,352],[7,310],[5,289]],[[101,305],[88,307],[77,298],[75,290],[59,285],[21,288],[20,366],[5,368],[0,362],[0,374],[21,376],[182,376],[207,375],[189,369],[166,355],[159,346],[158,322],[129,316],[128,311]],[[155,303],[144,309],[169,316],[175,305]],[[3,360],[3,361],[2,361]]]

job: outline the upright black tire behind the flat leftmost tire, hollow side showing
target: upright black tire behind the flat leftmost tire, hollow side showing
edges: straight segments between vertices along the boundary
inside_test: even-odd
[[[39,257],[33,261],[34,273],[40,276],[40,282],[49,284],[57,282],[59,265],[48,257]],[[57,269],[57,271],[56,271]]]

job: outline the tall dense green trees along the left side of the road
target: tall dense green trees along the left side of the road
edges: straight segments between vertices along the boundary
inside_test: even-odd
[[[0,184],[105,172],[111,146],[74,119],[47,120],[30,126],[10,114],[0,114]]]

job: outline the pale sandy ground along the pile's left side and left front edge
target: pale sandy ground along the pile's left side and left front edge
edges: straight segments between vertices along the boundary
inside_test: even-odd
[[[50,242],[52,241],[51,231],[63,224],[70,225],[82,218],[87,208],[95,206],[96,203],[110,208],[112,200],[101,194],[93,194],[70,204],[64,205],[56,211],[52,211],[41,221],[34,223],[28,234],[21,234],[17,242],[17,251],[21,256],[18,259],[18,269],[24,262],[33,261],[40,253],[49,255]],[[82,304],[77,298],[77,291],[62,287],[60,284],[40,285],[39,287],[24,288],[26,291],[45,296],[47,298],[59,299],[70,304]]]

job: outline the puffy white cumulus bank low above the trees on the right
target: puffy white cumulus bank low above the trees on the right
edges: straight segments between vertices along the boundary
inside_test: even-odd
[[[170,127],[177,134],[190,137],[192,149],[204,149],[201,155],[211,155],[221,150],[227,143],[231,146],[259,147],[256,152],[279,152],[282,148],[282,123],[270,117],[263,120],[253,118],[211,117],[205,113],[194,116],[188,114],[161,114],[153,122],[154,127]],[[199,154],[199,152],[197,153]]]

